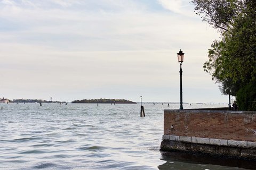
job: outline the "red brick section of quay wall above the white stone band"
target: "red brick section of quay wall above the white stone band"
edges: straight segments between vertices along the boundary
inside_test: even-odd
[[[164,110],[164,134],[256,142],[256,112]]]

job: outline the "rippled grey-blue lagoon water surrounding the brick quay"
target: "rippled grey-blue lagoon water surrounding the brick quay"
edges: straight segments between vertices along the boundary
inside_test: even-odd
[[[179,105],[144,107],[146,117],[139,104],[0,104],[0,169],[242,169],[162,155],[163,109]]]

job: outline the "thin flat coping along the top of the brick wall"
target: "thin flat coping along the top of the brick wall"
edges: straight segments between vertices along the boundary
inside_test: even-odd
[[[164,113],[232,113],[232,114],[256,114],[255,111],[218,111],[218,110],[208,110],[207,108],[205,109],[164,109]]]

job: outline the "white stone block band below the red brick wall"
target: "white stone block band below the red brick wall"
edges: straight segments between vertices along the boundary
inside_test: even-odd
[[[237,140],[225,140],[225,139],[212,139],[212,138],[198,138],[198,137],[181,137],[176,135],[163,135],[163,140],[186,142],[186,143],[198,143],[215,146],[228,146],[237,148],[256,148],[256,142],[250,141],[237,141]]]

